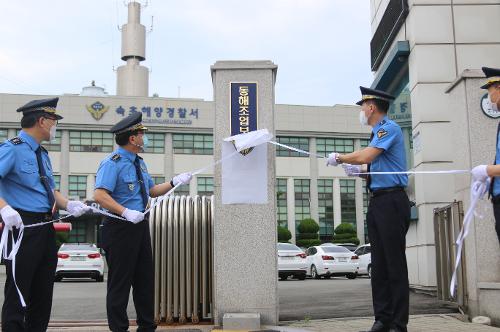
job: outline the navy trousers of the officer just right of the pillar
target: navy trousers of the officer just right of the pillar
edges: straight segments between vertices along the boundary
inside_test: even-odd
[[[406,331],[410,290],[405,250],[410,202],[402,189],[372,195],[366,222],[375,320]]]

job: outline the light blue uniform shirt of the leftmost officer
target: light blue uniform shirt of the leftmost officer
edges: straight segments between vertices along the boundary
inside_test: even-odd
[[[16,144],[17,143],[17,144]],[[14,209],[49,212],[49,198],[38,173],[35,151],[40,145],[21,130],[17,138],[0,145],[0,197]],[[42,150],[42,165],[52,190],[55,189],[52,165]]]

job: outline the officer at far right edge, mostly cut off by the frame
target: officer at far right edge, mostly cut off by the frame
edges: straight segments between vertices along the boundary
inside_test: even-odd
[[[483,67],[487,82],[481,89],[488,90],[488,103],[493,111],[500,110],[500,69]],[[486,181],[492,177],[490,184],[490,196],[493,203],[493,214],[495,215],[495,229],[500,242],[500,123],[497,127],[496,156],[493,165],[479,165],[472,170],[474,180]]]

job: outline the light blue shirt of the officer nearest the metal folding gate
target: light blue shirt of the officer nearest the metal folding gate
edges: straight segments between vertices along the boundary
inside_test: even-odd
[[[107,190],[116,202],[127,209],[144,212],[141,186],[134,166],[136,156],[135,153],[121,147],[107,156],[97,170],[95,188]],[[140,160],[140,165],[146,193],[149,196],[149,189],[155,184],[144,160]]]

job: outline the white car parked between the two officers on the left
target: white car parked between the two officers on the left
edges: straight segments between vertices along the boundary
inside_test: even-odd
[[[55,280],[92,278],[104,281],[104,260],[95,244],[64,243],[57,253]]]

